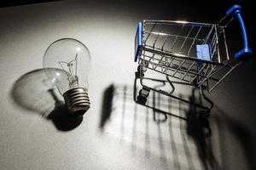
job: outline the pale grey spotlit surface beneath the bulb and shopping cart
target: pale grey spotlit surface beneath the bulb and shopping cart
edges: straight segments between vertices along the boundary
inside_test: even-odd
[[[247,23],[250,5],[245,4]],[[211,136],[189,115],[189,105],[160,96],[158,106],[172,116],[155,122],[154,111],[132,99],[138,21],[216,22],[228,7],[219,2],[209,7],[185,1],[60,1],[0,8],[0,169],[255,169],[255,59],[208,95],[215,103]],[[253,35],[253,24],[248,31]],[[91,108],[83,120],[56,110],[47,91],[44,51],[62,37],[90,49]],[[111,84],[111,115],[101,127]],[[176,94],[189,98],[190,92],[180,86]]]

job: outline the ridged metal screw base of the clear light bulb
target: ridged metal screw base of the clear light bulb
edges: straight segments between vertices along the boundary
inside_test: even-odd
[[[90,99],[86,88],[72,88],[63,94],[67,110],[74,116],[83,116],[90,109]]]

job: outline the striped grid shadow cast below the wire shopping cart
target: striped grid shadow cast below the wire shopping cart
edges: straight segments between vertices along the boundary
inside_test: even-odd
[[[180,100],[165,98],[156,92],[148,97],[146,105],[141,105],[137,102],[136,91],[136,87],[116,84],[105,89],[99,123],[102,133],[106,129],[108,133],[119,131],[120,141],[131,141],[132,150],[144,150],[145,156],[150,159],[159,153],[154,158],[159,159],[164,168],[221,169],[212,153],[210,123],[202,119],[195,105],[185,105]],[[196,88],[189,100],[201,102],[195,93]],[[127,120],[132,129],[127,129]],[[152,128],[156,133],[152,133]],[[127,131],[131,131],[131,137]],[[193,145],[196,155],[191,151]],[[181,161],[181,155],[185,162]],[[201,167],[195,161],[200,161]]]

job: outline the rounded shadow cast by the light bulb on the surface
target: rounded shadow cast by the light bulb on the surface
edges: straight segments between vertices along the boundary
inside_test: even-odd
[[[27,72],[15,81],[10,96],[22,109],[52,121],[58,130],[73,130],[81,124],[83,117],[70,116],[61,95],[55,91],[44,69],[38,69]]]

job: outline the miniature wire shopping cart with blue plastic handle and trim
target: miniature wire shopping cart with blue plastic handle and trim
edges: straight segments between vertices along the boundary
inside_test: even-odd
[[[236,18],[241,26],[243,48],[230,56],[225,30]],[[138,62],[138,78],[142,85],[137,99],[147,101],[150,90],[171,97],[175,86],[171,77],[188,85],[211,92],[238,65],[252,54],[247,40],[247,31],[241,18],[241,6],[234,5],[218,24],[173,20],[143,20],[137,26],[135,61]],[[166,76],[170,91],[151,88],[143,83],[147,70]],[[206,98],[206,96],[203,94]],[[212,102],[207,99],[211,104]],[[207,108],[202,106],[207,111]]]

